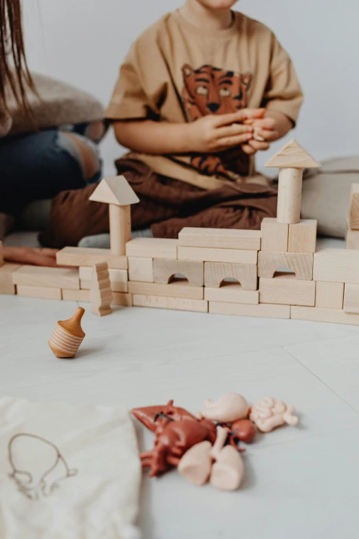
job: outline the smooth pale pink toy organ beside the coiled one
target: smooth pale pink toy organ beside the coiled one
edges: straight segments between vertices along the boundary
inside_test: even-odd
[[[220,421],[221,423],[232,423],[237,419],[244,419],[248,416],[248,402],[238,393],[227,393],[217,399],[204,402],[204,410],[200,415],[205,419]]]

